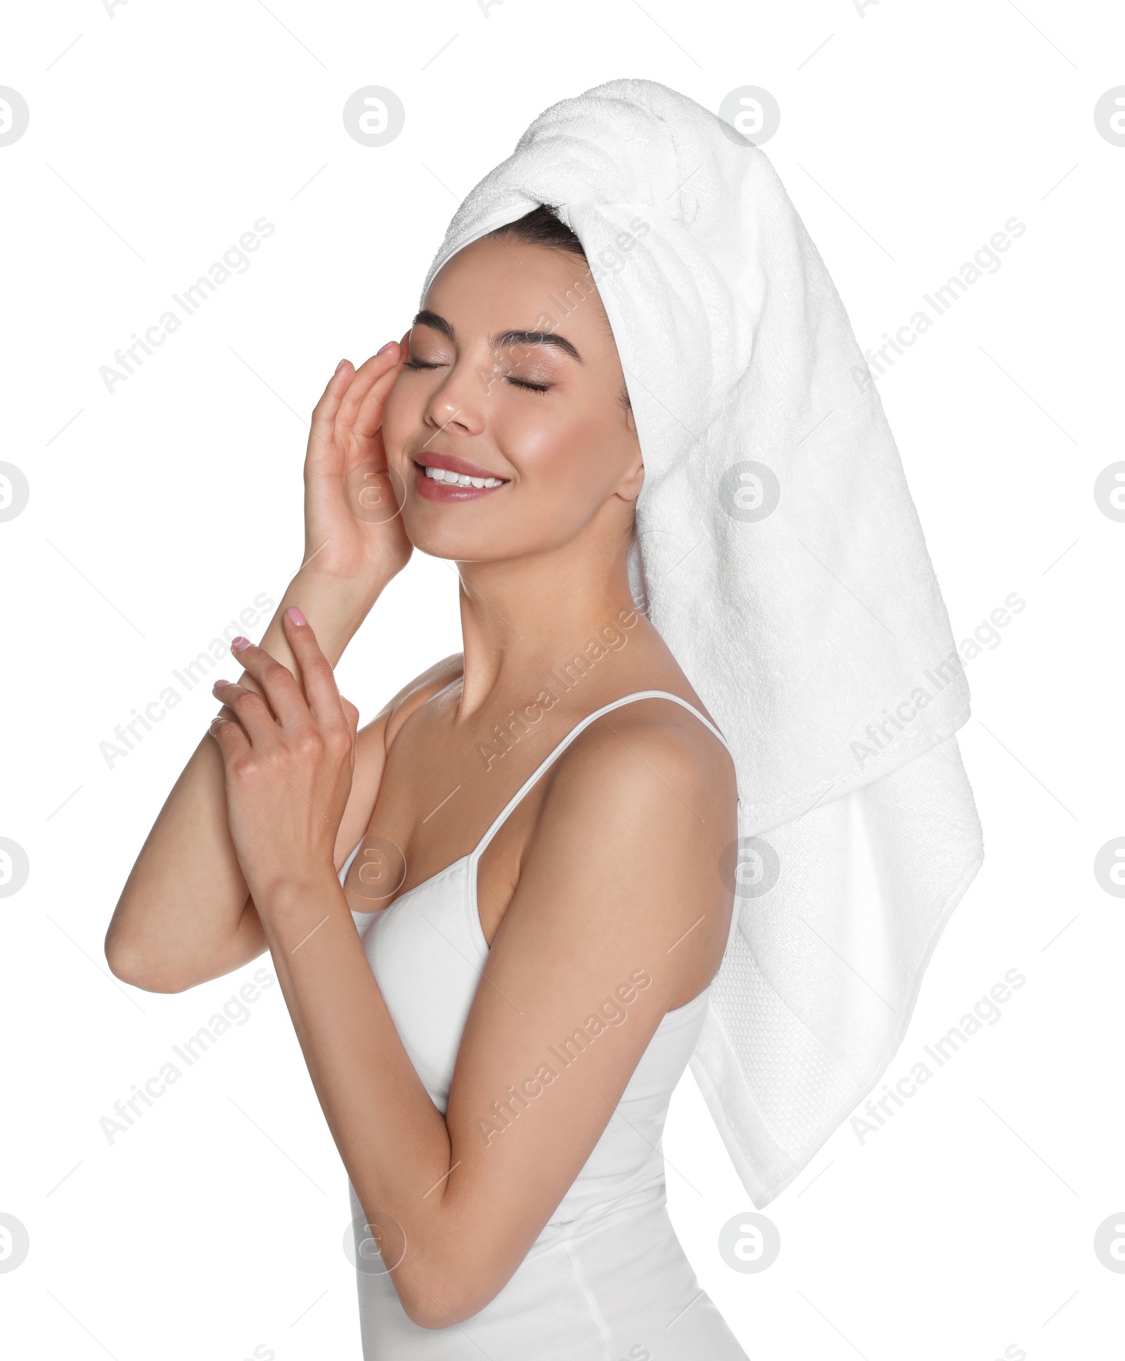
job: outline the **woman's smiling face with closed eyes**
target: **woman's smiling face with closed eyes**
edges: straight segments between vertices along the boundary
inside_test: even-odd
[[[550,551],[592,521],[627,535],[643,467],[622,392],[581,256],[488,237],[457,252],[382,419],[411,542],[464,562]]]

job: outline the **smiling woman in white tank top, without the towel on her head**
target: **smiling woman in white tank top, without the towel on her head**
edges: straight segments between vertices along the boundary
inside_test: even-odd
[[[354,1192],[367,1357],[745,1356],[660,1153],[731,931],[735,768],[630,595],[645,467],[588,279],[536,208],[340,363],[303,565],[235,640],[106,938],[156,992],[271,951]],[[457,563],[463,652],[358,728],[332,668],[414,547]]]

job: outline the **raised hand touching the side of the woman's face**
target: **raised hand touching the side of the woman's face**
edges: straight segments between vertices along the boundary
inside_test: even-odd
[[[313,411],[305,456],[303,572],[373,596],[407,565],[411,542],[386,468],[382,411],[409,332],[359,369],[341,361]]]

